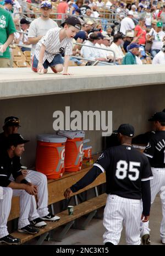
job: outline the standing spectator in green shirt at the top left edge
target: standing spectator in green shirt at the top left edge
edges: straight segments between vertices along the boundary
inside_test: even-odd
[[[9,45],[16,32],[12,16],[0,7],[0,68],[10,66]]]

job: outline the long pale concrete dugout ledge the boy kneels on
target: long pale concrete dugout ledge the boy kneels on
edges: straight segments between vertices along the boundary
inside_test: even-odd
[[[0,99],[165,84],[165,65],[69,67],[73,76],[0,68]]]

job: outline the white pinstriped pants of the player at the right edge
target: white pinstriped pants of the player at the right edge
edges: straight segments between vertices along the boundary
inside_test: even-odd
[[[156,195],[160,193],[161,203],[162,203],[162,215],[163,215],[160,232],[161,232],[161,238],[165,238],[165,187],[164,187],[165,186],[165,168],[152,167],[151,169],[153,174],[153,179],[150,180],[151,204],[155,200]],[[144,234],[150,234],[149,221],[141,222],[140,232],[141,232],[141,236],[144,236]]]

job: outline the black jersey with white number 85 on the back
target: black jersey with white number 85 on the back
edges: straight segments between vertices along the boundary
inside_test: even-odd
[[[152,179],[149,159],[131,146],[108,148],[94,166],[106,171],[106,193],[141,199],[141,182]]]

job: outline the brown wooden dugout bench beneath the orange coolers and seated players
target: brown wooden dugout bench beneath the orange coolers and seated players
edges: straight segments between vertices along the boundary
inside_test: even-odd
[[[94,161],[97,159],[97,157],[98,155],[94,156]],[[64,173],[62,178],[59,178],[56,180],[48,180],[48,205],[52,205],[56,202],[62,201],[64,199],[64,196],[63,196],[64,190],[66,188],[69,188],[79,179],[81,179],[89,171],[89,169],[91,169],[91,166],[90,167],[83,166],[79,172]],[[31,235],[31,234],[19,233],[15,231],[12,233],[12,236],[20,238],[21,243],[25,243],[34,237],[40,236],[36,244],[42,244],[42,242],[45,240],[45,238],[47,237],[50,231],[62,225],[66,225],[63,231],[61,232],[61,234],[58,234],[58,238],[56,239],[56,241],[57,240],[61,241],[61,239],[68,232],[69,228],[75,225],[75,220],[77,218],[89,214],[89,216],[86,218],[83,225],[76,226],[76,228],[85,229],[86,225],[90,222],[92,217],[95,216],[97,209],[101,208],[102,206],[105,206],[106,204],[107,195],[106,194],[98,195],[98,191],[97,191],[97,186],[104,184],[105,182],[106,182],[106,175],[105,173],[102,173],[89,186],[86,186],[86,188],[81,189],[77,193],[73,194],[73,196],[75,196],[75,202],[76,202],[76,205],[74,207],[74,215],[69,216],[68,210],[62,211],[57,214],[59,217],[61,217],[59,221],[47,222],[47,226],[45,228],[41,228],[39,233],[35,235]],[[78,199],[76,198],[76,195],[92,188],[95,188],[96,197],[78,204]],[[19,217],[19,198],[14,197],[12,199],[12,209],[11,209],[8,221],[14,220],[15,218],[18,218],[18,217]]]

